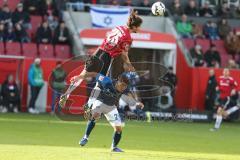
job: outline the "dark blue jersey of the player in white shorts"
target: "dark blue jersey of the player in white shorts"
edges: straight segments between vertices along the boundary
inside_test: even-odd
[[[98,74],[96,81],[101,89],[97,99],[109,106],[117,105],[122,93],[116,90],[116,81],[101,74]]]

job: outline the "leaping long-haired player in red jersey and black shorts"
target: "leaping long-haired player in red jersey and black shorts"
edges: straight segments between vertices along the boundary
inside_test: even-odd
[[[71,79],[73,84],[70,85],[66,93],[60,98],[59,104],[61,107],[65,106],[70,93],[81,84],[84,78],[94,76],[96,73],[106,76],[115,57],[121,56],[125,71],[134,71],[134,67],[128,57],[128,50],[133,41],[131,33],[137,33],[140,30],[141,24],[141,17],[138,16],[137,12],[132,11],[126,26],[116,27],[106,35],[102,45],[96,50],[95,54],[86,61],[85,68],[81,74]],[[96,92],[97,90],[96,85],[89,98],[88,106],[91,106],[92,102],[96,99],[95,97],[99,93]]]

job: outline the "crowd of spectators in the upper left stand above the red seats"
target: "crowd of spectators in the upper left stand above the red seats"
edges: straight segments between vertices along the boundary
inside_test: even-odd
[[[30,35],[32,15],[42,17],[43,22]],[[6,2],[0,10],[0,42],[69,44],[69,31],[54,0],[22,0],[15,10]]]

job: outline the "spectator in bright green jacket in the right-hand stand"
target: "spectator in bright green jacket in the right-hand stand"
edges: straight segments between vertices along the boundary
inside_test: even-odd
[[[183,38],[192,37],[192,24],[188,22],[185,14],[182,15],[182,20],[177,22],[177,31]]]

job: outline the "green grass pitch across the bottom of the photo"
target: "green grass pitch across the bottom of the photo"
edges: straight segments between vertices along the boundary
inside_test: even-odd
[[[51,115],[0,114],[0,160],[240,160],[240,123],[134,122],[111,153],[113,130],[99,121],[85,147],[78,145],[86,122]]]

